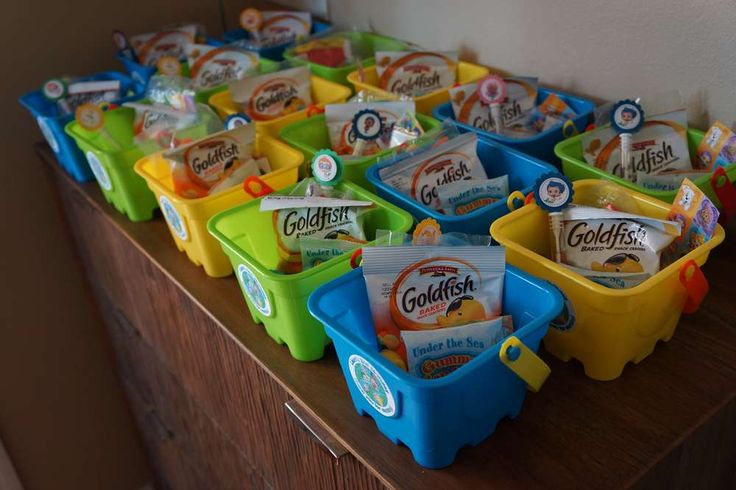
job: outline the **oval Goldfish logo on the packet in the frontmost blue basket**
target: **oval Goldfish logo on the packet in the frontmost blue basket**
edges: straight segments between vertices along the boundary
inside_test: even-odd
[[[406,267],[396,278],[389,309],[406,330],[429,330],[486,318],[474,298],[482,284],[475,266],[452,257],[425,259]]]

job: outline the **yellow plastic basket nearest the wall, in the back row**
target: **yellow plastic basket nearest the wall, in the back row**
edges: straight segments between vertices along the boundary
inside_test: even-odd
[[[363,81],[360,80],[360,75],[357,70],[348,75],[348,81],[353,84],[356,92],[363,90],[364,92],[376,94],[381,97],[392,99],[398,98],[398,95],[378,88],[378,73],[376,72],[375,66],[368,67],[364,69],[363,72],[365,74]],[[503,75],[503,73],[486,68],[485,66],[468,63],[467,61],[459,61],[457,64],[457,82],[461,85],[464,83],[474,82],[491,72]],[[417,112],[431,116],[432,109],[450,100],[450,94],[447,92],[446,88],[443,88],[426,95],[413,97],[412,99],[416,103]]]

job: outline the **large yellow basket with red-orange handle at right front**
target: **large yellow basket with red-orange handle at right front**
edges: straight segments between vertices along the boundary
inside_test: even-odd
[[[573,202],[591,203],[603,180],[573,183]],[[663,219],[670,204],[630,189],[642,214]],[[547,213],[527,205],[497,219],[491,225],[493,239],[506,246],[506,260],[532,275],[557,285],[566,296],[566,307],[552,322],[544,338],[545,348],[564,361],[575,358],[585,374],[605,381],[619,377],[629,361],[634,363],[652,353],[658,340],[668,341],[677,326],[688,290],[680,279],[691,260],[702,266],[710,251],[725,236],[716,226],[713,237],[678,261],[660,270],[636,287],[609,289],[550,260]]]

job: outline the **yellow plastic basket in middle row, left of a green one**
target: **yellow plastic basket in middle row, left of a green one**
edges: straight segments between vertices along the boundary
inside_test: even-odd
[[[350,89],[339,83],[325,80],[324,78],[311,77],[311,88],[312,88],[312,100],[314,104],[323,109],[325,104],[339,104],[345,102],[350,97]],[[212,106],[217,115],[222,119],[225,119],[230,114],[235,114],[238,111],[237,106],[230,97],[230,90],[217,93],[210,98],[210,106]],[[262,134],[271,136],[272,138],[279,137],[279,131],[281,128],[288,126],[289,124],[301,121],[308,117],[307,112],[309,109],[289,114],[288,116],[274,119],[273,121],[256,121],[256,130]]]

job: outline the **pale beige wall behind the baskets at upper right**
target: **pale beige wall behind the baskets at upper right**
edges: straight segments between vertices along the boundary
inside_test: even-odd
[[[333,20],[602,100],[679,88],[692,124],[736,115],[732,0],[330,0]]]

